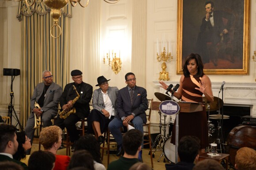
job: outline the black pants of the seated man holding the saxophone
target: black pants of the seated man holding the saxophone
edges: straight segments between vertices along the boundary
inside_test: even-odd
[[[78,140],[79,131],[76,129],[75,123],[77,123],[81,118],[76,114],[70,114],[66,119],[60,119],[60,115],[57,116],[54,121],[54,125],[60,127],[62,130],[66,127],[69,133],[70,141],[74,142]]]

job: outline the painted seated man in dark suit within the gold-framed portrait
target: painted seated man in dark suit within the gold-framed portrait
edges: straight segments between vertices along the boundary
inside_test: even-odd
[[[210,62],[210,54],[217,55],[215,46],[217,43],[228,41],[229,30],[233,24],[234,16],[226,11],[214,11],[214,3],[207,1],[205,3],[205,17],[202,19],[200,33],[198,35],[196,47],[197,53],[201,54],[203,63]],[[226,19],[226,23],[223,22]],[[207,43],[211,43],[212,51],[207,50]],[[217,65],[217,63],[214,63]]]

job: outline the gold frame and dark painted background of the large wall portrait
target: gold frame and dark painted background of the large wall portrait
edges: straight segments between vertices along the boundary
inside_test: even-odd
[[[217,20],[217,10],[229,12],[232,15],[232,26],[224,42],[208,43],[202,37],[203,19],[205,19],[205,0],[178,0],[177,4],[177,74],[182,74],[184,58],[189,53],[201,52],[204,63],[204,73],[211,75],[245,75],[248,74],[249,62],[249,28],[250,0],[212,0],[214,4],[213,18]],[[226,3],[226,4],[225,4]],[[187,14],[188,13],[188,14]],[[222,18],[223,23],[229,22]],[[216,25],[217,25],[216,21]],[[243,23],[243,25],[242,25]],[[201,25],[201,26],[200,26]],[[231,24],[230,24],[231,25]],[[217,27],[215,27],[217,28]],[[241,33],[242,32],[242,33]],[[211,33],[211,32],[209,32]],[[222,32],[224,33],[224,32]],[[207,43],[200,46],[200,40]],[[213,39],[210,39],[210,41]],[[217,41],[216,41],[217,42]],[[221,42],[221,43],[220,43]],[[202,48],[207,47],[207,48]],[[201,48],[201,49],[200,49]],[[202,54],[209,54],[203,58]],[[207,56],[207,55],[204,55]]]

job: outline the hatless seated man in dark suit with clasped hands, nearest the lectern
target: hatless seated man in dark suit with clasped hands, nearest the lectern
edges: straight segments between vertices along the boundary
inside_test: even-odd
[[[117,95],[117,116],[109,123],[109,130],[117,141],[117,156],[123,154],[122,134],[120,127],[128,127],[128,123],[133,123],[135,129],[143,134],[143,123],[147,123],[147,90],[136,86],[136,78],[132,72],[125,75],[127,87],[118,91]],[[143,142],[141,144],[143,148]],[[139,159],[142,150],[139,151]]]

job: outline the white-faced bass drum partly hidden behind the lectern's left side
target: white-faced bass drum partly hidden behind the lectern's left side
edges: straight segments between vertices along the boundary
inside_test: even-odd
[[[171,143],[171,137],[169,137],[163,146],[164,156],[169,162],[176,163],[175,161],[175,145]]]

